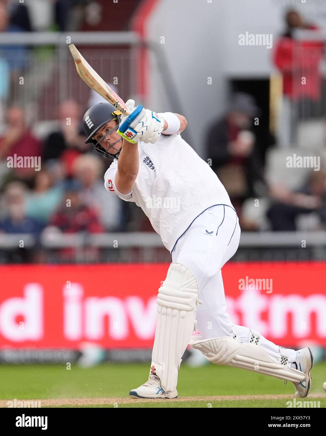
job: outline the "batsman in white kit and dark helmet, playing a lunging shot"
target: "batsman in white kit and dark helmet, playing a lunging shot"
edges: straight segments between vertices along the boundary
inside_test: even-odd
[[[239,220],[214,171],[182,139],[186,119],[135,107],[133,100],[126,106],[129,116],[107,102],[88,109],[86,143],[112,160],[105,189],[142,208],[172,256],[158,290],[149,379],[129,395],[177,398],[181,358],[190,344],[215,364],[292,381],[296,396],[306,397],[310,348],[280,347],[235,325],[227,313],[221,268],[238,249]]]

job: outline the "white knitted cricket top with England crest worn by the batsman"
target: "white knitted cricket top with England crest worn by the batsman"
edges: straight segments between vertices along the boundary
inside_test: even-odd
[[[180,134],[161,134],[155,144],[139,141],[138,151],[139,173],[130,194],[115,187],[117,160],[105,172],[105,189],[142,208],[168,250],[205,209],[233,207],[217,175]]]

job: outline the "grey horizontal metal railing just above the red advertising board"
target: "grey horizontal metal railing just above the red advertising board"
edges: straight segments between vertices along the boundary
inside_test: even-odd
[[[160,236],[152,232],[125,233],[44,233],[40,240],[31,235],[0,235],[0,252],[10,252],[24,242],[25,249],[44,249],[54,253],[72,249],[73,262],[170,262],[171,255]],[[88,256],[89,248],[98,249],[99,256]],[[50,259],[50,262],[51,262]],[[326,232],[243,232],[233,261],[325,260]],[[62,260],[62,259],[61,259]]]

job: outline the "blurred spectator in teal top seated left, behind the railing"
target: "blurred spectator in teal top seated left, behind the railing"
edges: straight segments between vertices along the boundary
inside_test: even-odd
[[[51,173],[42,170],[36,173],[34,190],[26,199],[26,213],[29,217],[47,224],[50,215],[59,205],[63,195],[63,185],[52,184]]]

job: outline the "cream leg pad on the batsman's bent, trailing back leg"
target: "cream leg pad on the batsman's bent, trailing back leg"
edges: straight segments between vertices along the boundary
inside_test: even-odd
[[[255,330],[251,330],[247,343],[238,342],[233,336],[226,336],[204,340],[192,337],[189,344],[199,349],[208,361],[218,365],[248,369],[294,383],[306,378],[304,372],[288,366],[288,356],[284,348],[279,348],[278,363],[273,361],[261,348],[260,334]]]

